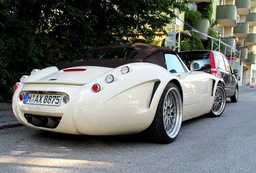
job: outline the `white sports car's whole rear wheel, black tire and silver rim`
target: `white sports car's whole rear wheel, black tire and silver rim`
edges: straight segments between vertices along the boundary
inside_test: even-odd
[[[178,87],[170,82],[159,100],[154,120],[149,127],[151,139],[171,143],[178,136],[182,123],[182,97]]]

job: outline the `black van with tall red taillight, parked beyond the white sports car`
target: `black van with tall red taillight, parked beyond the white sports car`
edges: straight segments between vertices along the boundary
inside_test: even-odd
[[[231,102],[238,100],[238,82],[235,75],[238,70],[232,70],[227,58],[218,51],[214,50],[192,50],[177,52],[186,66],[190,69],[192,62],[202,65],[200,70],[222,78],[225,82],[225,91]]]

